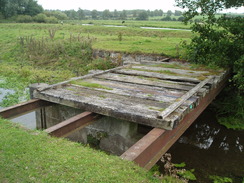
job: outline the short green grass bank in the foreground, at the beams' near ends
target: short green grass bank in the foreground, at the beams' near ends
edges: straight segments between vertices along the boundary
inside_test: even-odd
[[[132,162],[3,119],[0,138],[0,182],[159,182]]]

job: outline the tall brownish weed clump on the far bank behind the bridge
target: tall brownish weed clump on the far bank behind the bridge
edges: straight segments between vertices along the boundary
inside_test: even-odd
[[[90,69],[109,69],[116,66],[109,59],[93,58],[92,43],[95,38],[70,34],[69,38],[56,39],[57,29],[49,29],[49,37],[33,36],[19,38],[22,60],[28,65],[51,70],[71,70],[83,75]],[[94,67],[94,68],[93,68]]]

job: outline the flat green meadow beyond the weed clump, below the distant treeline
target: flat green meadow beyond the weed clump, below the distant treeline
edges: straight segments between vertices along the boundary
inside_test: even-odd
[[[177,56],[176,45],[181,41],[190,41],[192,33],[189,31],[172,30],[144,30],[140,28],[117,28],[102,26],[81,26],[65,24],[0,24],[0,40],[5,53],[12,48],[18,37],[31,36],[42,38],[49,36],[49,29],[57,29],[55,39],[69,38],[70,34],[80,37],[96,39],[93,43],[95,49],[124,51],[129,53],[158,53]],[[122,35],[119,41],[118,35]],[[148,50],[148,48],[150,48]]]

